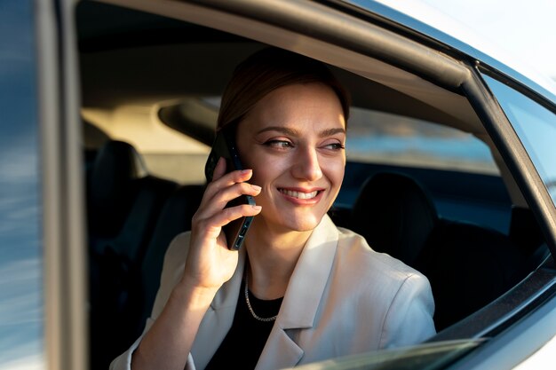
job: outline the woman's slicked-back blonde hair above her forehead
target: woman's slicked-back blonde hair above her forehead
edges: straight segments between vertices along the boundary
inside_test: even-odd
[[[222,95],[217,130],[241,122],[258,100],[280,87],[297,83],[323,83],[330,86],[338,99],[347,122],[350,97],[338,79],[321,61],[278,48],[265,48],[245,59]]]

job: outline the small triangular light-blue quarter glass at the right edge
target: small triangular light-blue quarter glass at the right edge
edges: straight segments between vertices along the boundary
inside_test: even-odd
[[[556,202],[556,114],[503,83],[484,78]]]

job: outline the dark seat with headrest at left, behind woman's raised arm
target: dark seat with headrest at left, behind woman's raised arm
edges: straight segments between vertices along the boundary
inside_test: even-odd
[[[140,277],[163,202],[178,187],[149,176],[136,150],[110,140],[87,183],[91,368],[107,368],[127,348],[129,288]]]

